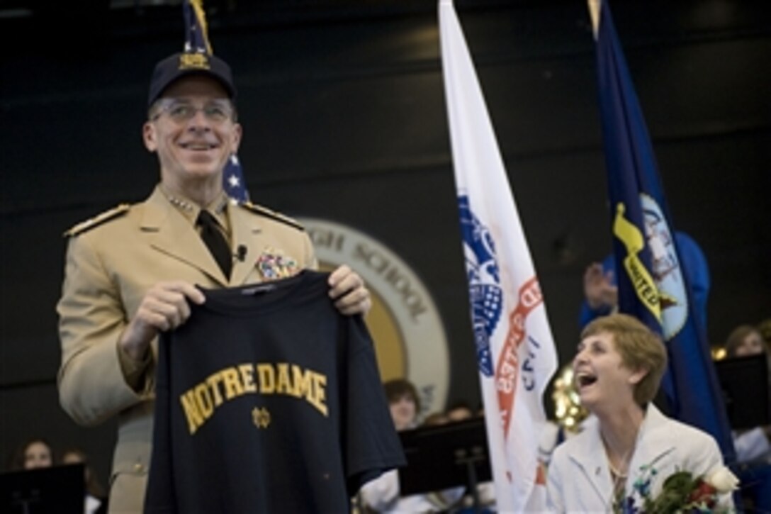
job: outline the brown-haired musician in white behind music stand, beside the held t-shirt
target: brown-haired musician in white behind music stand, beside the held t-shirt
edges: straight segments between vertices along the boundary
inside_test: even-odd
[[[397,431],[417,427],[420,399],[409,380],[389,380],[383,384],[385,397],[391,408],[391,417]],[[359,500],[365,512],[443,512],[463,497],[465,488],[441,492],[402,496],[399,493],[399,472],[392,469],[359,491]]]

